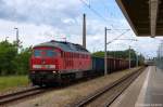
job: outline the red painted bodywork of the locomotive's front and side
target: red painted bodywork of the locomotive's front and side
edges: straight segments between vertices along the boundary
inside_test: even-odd
[[[39,46],[34,50],[53,50],[58,53],[54,57],[35,57],[34,55],[30,58],[30,70],[32,71],[85,71],[91,69],[91,56],[86,53],[74,53],[74,52],[64,52],[58,48],[48,48],[48,46]],[[42,53],[43,54],[43,53]],[[42,61],[45,64],[42,64]],[[47,69],[47,68],[37,68],[34,69],[33,65],[55,65],[55,69]]]

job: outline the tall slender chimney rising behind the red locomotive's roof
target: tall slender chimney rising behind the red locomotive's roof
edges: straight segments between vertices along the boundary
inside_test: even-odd
[[[83,46],[86,49],[86,14],[84,13],[83,21]]]

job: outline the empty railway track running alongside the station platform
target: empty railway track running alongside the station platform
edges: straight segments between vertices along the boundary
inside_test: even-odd
[[[140,68],[117,81],[96,91],[95,93],[77,101],[68,106],[71,107],[109,107],[118,97],[123,91],[145,70]]]

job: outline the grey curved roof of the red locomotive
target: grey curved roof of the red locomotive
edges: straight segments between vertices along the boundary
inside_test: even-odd
[[[45,42],[45,43],[40,43],[38,45],[35,45],[34,48],[38,48],[38,46],[52,46],[52,48],[59,48],[63,51],[66,52],[85,52],[85,53],[89,53],[84,46],[82,46],[80,44],[75,44],[75,43],[71,43],[71,42],[63,42],[63,41],[49,41],[49,42]]]

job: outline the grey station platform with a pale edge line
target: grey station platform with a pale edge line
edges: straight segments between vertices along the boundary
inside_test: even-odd
[[[111,107],[163,107],[163,70],[149,66]]]

